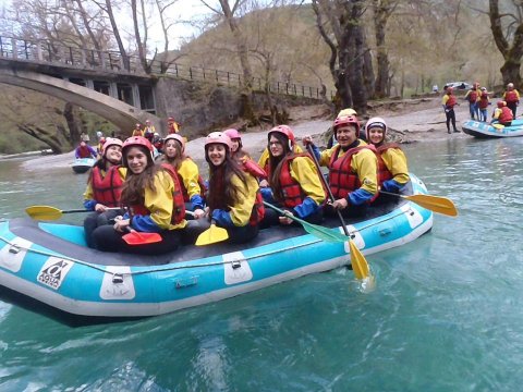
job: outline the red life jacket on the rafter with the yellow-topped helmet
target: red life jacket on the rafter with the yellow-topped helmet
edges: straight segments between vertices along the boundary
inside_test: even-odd
[[[368,146],[358,146],[348,150],[343,157],[338,158],[341,147],[336,146],[336,151],[329,162],[329,186],[335,198],[345,198],[351,192],[362,186],[360,177],[351,169],[352,156]]]

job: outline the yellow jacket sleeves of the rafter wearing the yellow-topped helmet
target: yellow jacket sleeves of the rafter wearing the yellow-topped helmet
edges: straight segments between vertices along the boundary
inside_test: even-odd
[[[358,142],[358,147],[367,146],[365,142],[361,139]],[[321,151],[319,156],[319,164],[328,167],[330,158],[336,152],[337,148],[339,148],[339,146]],[[340,148],[338,158],[341,158],[344,155],[345,152]],[[373,195],[378,193],[378,159],[372,150],[363,149],[354,154],[351,159],[351,170],[356,173],[360,179],[360,182],[362,183],[362,186],[360,187],[361,189],[369,192]]]

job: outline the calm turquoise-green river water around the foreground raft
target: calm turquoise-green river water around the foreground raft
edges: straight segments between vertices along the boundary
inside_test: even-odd
[[[436,216],[431,233],[369,256],[373,293],[338,270],[80,328],[0,302],[0,390],[520,390],[523,138],[405,150],[411,170],[460,216]],[[81,206],[85,175],[20,172],[19,163],[0,162],[0,216]]]

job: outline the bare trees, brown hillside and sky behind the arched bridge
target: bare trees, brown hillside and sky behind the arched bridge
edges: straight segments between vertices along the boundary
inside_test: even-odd
[[[193,2],[200,7],[187,17],[184,0],[12,0],[0,10],[0,35],[115,50],[137,57],[148,73],[151,61],[235,72],[243,76],[239,94],[248,119],[256,119],[248,105],[255,88],[267,89],[272,108],[267,86],[275,81],[317,85],[326,100],[333,91],[330,105],[363,112],[369,99],[409,97],[453,81],[478,81],[489,90],[508,81],[521,87],[520,0]],[[78,130],[105,126],[66,102],[2,90],[2,152],[16,148],[13,132],[23,144],[54,140],[53,149],[66,150]],[[35,119],[38,102],[45,105]]]

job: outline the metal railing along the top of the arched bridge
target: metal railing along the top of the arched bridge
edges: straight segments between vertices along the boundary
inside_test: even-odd
[[[136,56],[122,57],[118,51],[83,49],[64,46],[48,40],[32,41],[21,38],[7,38],[0,36],[0,58],[22,60],[42,64],[59,64],[61,66],[100,70],[111,73],[132,73],[146,76],[139,58]],[[167,63],[158,60],[150,61],[150,70],[156,74],[172,75],[190,81],[204,81],[224,86],[242,87],[243,75],[192,66],[179,63]],[[265,81],[260,77],[253,78],[253,88],[265,89]],[[321,99],[333,97],[333,91],[325,91],[318,87],[306,86],[292,82],[272,81],[269,90],[276,94]]]

